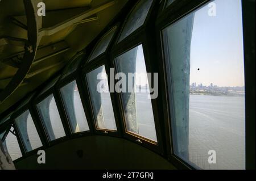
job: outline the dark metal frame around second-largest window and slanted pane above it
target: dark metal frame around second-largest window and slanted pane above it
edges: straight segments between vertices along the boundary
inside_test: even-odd
[[[137,2],[139,3],[139,1]],[[138,45],[142,45],[143,47],[143,53],[144,53],[144,61],[147,72],[151,73],[158,73],[158,69],[155,68],[155,66],[152,66],[155,62],[155,48],[154,43],[155,40],[152,39],[152,35],[155,36],[154,32],[154,23],[156,19],[156,15],[158,14],[159,9],[159,2],[153,1],[150,7],[150,10],[148,11],[147,17],[144,21],[144,24],[139,27],[137,30],[132,32],[129,36],[125,37],[122,41],[119,41],[119,37],[121,36],[121,33],[123,31],[123,28],[126,25],[127,20],[130,18],[131,13],[135,9],[136,6],[131,9],[129,14],[126,16],[125,21],[122,24],[121,31],[119,31],[117,39],[115,39],[115,44],[112,47],[112,50],[110,52],[110,60],[112,61],[112,66],[115,69],[115,72],[117,72],[117,67],[115,65],[115,58],[120,56],[123,53],[128,52],[129,50],[137,47]],[[154,23],[153,23],[154,22]],[[153,78],[152,78],[153,79]],[[115,83],[117,83],[118,80],[115,80]],[[160,92],[159,92],[160,93]],[[163,145],[163,135],[162,135],[162,125],[160,124],[160,110],[159,110],[159,98],[157,99],[151,99],[151,105],[152,105],[152,111],[154,115],[154,122],[155,122],[155,130],[156,130],[156,136],[158,138],[157,144],[154,141],[151,141],[148,138],[145,138],[143,136],[140,136],[138,134],[133,134],[131,132],[128,132],[126,130],[126,116],[125,116],[125,110],[122,103],[121,94],[115,94],[118,100],[118,108],[121,112],[122,121],[122,132],[123,137],[127,140],[130,140],[132,142],[135,142],[136,144],[139,144],[141,146],[144,146],[147,149],[150,149],[154,151],[155,153],[161,155],[164,157],[166,155],[164,151],[164,145]],[[139,142],[138,140],[142,140],[142,142]]]

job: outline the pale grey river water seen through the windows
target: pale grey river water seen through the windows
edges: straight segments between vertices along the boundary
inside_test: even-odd
[[[156,139],[151,104],[145,93],[136,99],[140,134]],[[191,95],[189,107],[189,161],[202,169],[245,169],[244,97]],[[8,140],[11,156],[18,158],[15,137]],[[216,151],[216,164],[208,163],[209,150]]]

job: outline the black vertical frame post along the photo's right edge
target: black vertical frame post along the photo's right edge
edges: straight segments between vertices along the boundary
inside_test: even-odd
[[[245,58],[245,160],[255,170],[255,1],[242,0]]]

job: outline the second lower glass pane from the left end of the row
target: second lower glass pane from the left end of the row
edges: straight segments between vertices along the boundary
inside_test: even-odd
[[[17,117],[15,123],[27,152],[43,146],[30,115],[30,111],[27,110]]]

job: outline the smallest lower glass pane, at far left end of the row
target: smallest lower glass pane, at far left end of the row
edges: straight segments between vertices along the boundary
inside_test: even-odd
[[[11,132],[8,133],[3,144],[5,144],[7,151],[10,154],[11,159],[13,159],[13,161],[15,159],[22,157],[22,153],[19,148],[18,140],[17,140],[16,136],[13,135],[13,133],[11,133]]]

